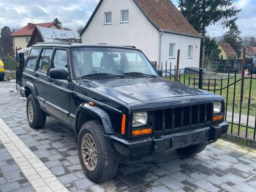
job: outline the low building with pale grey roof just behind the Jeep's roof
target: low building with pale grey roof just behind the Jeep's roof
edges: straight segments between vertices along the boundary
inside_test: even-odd
[[[39,42],[73,42],[81,43],[81,36],[78,31],[67,31],[64,29],[43,28],[36,26],[28,42],[27,47],[31,47]]]

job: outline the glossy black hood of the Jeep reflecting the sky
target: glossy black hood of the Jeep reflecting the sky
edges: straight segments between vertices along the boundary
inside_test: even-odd
[[[211,93],[189,88],[182,83],[154,78],[102,78],[83,81],[82,86],[92,88],[127,104],[147,100],[166,99],[192,95],[209,95]]]

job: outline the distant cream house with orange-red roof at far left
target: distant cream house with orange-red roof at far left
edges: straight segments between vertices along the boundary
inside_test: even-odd
[[[11,36],[13,37],[14,49],[17,48],[18,50],[20,50],[22,48],[27,47],[35,26],[58,29],[58,26],[56,26],[56,24],[54,24],[54,22],[39,23],[39,24],[28,23],[28,25],[21,28],[19,31],[12,33]]]

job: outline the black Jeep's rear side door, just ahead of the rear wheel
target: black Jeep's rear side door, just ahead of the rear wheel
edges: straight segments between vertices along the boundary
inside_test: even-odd
[[[43,48],[41,50],[38,65],[35,70],[35,86],[38,92],[40,106],[45,109],[47,72],[51,63],[52,49]]]

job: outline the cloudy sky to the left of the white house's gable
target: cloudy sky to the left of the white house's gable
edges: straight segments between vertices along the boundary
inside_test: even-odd
[[[84,26],[99,0],[1,0],[0,28],[17,28],[28,22],[51,22],[55,17],[63,26]]]

